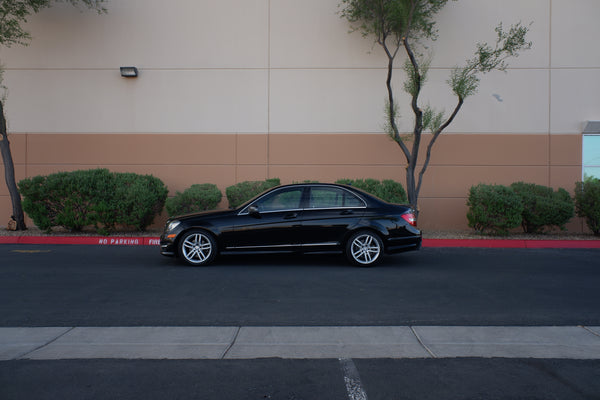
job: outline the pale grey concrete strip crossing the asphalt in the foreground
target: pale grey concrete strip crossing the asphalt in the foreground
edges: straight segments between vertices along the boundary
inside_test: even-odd
[[[600,359],[600,327],[0,328],[0,360],[268,357]]]

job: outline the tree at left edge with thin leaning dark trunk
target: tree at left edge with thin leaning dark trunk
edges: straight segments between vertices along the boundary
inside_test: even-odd
[[[96,10],[98,13],[106,12],[103,6],[107,0],[64,0],[74,6],[83,5]],[[45,8],[52,7],[61,0],[0,0],[0,46],[13,45],[26,46],[31,40],[31,34],[26,30],[27,19]],[[3,68],[0,64],[0,85],[2,83]],[[12,202],[13,217],[16,220],[17,230],[25,230],[25,216],[21,206],[21,196],[15,180],[15,168],[8,140],[8,129],[4,104],[6,102],[6,87],[1,86],[0,98],[0,153],[4,164],[4,178]]]

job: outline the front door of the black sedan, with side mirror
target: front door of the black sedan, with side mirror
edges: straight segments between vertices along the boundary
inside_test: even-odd
[[[287,251],[300,245],[301,203],[305,187],[276,189],[245,207],[236,217],[232,251]]]

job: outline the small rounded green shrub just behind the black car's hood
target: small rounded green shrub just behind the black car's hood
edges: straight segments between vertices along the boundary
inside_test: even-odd
[[[192,185],[167,199],[165,204],[169,216],[214,210],[223,197],[217,185],[203,183]]]

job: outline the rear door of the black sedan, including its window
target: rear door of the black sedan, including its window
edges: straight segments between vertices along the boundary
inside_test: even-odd
[[[339,246],[348,230],[358,224],[365,209],[364,200],[349,190],[311,187],[302,221],[303,248],[326,251]]]

